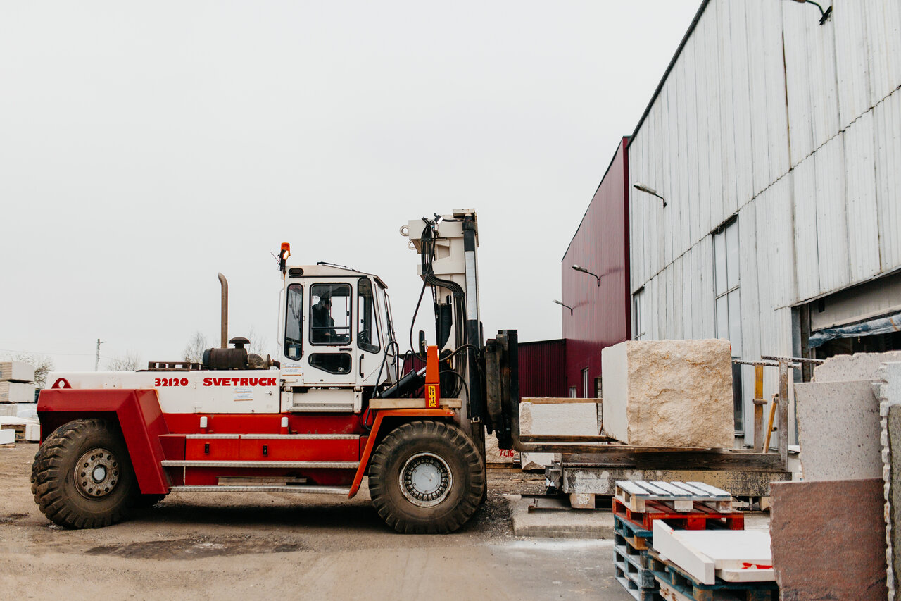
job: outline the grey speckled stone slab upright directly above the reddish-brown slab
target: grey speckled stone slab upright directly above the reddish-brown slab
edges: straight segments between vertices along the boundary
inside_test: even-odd
[[[869,380],[795,384],[805,480],[882,477],[879,402]]]

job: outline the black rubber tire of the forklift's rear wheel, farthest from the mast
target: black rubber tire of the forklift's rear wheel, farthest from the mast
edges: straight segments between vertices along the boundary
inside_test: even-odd
[[[88,498],[76,484],[76,462],[94,449],[112,457],[108,471],[116,474],[117,470],[117,475],[110,476],[107,494]],[[41,444],[32,465],[34,502],[51,522],[66,528],[101,528],[120,522],[137,490],[125,441],[104,420],[75,420],[60,426]]]

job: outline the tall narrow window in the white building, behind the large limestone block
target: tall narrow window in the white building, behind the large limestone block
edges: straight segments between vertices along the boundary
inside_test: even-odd
[[[732,343],[732,356],[742,356],[742,310],[739,295],[738,220],[714,233],[714,295],[716,298],[716,337]],[[741,391],[742,370],[733,370],[733,387]],[[742,394],[733,393],[735,431],[744,430]]]

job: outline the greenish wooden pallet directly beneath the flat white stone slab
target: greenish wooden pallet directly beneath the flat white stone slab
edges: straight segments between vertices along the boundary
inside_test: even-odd
[[[660,596],[667,601],[778,601],[779,598],[775,582],[726,582],[717,578],[716,584],[705,585],[678,566],[663,561],[653,551],[649,552],[649,558],[649,569],[660,587]]]

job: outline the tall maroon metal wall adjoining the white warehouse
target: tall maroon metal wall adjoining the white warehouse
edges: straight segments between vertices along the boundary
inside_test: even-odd
[[[560,300],[572,307],[572,315],[561,308],[566,387],[575,386],[579,397],[595,396],[595,378],[602,375],[601,349],[631,337],[628,142],[628,137],[620,141],[560,264]],[[600,286],[593,276],[574,270],[573,264],[600,275]],[[587,391],[582,386],[586,368]]]

